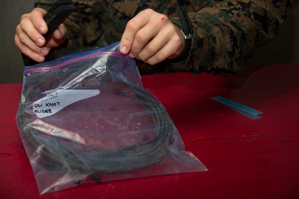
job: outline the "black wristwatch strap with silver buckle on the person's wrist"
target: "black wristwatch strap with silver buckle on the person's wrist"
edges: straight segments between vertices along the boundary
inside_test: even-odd
[[[179,13],[179,17],[180,17],[180,20],[181,20],[182,25],[183,25],[183,30],[181,30],[181,32],[184,35],[185,48],[184,48],[183,53],[179,57],[167,60],[171,63],[183,61],[185,58],[188,57],[190,49],[191,49],[192,36],[193,36],[192,35],[191,21],[190,21],[190,18],[188,16],[188,13],[186,12],[186,10],[182,6],[176,6],[176,10]]]

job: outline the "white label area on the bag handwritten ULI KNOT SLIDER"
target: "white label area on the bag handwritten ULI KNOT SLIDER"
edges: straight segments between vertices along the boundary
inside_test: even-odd
[[[39,118],[53,115],[64,107],[100,93],[99,90],[51,90],[45,97],[33,103],[33,112]]]

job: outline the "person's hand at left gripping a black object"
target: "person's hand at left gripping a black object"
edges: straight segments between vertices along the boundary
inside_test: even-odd
[[[29,58],[43,62],[45,55],[52,48],[60,46],[65,40],[66,28],[63,24],[45,41],[42,34],[48,32],[43,16],[47,11],[35,8],[31,13],[24,14],[16,28],[15,44]]]

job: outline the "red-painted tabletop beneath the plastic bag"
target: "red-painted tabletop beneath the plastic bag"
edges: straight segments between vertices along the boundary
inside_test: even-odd
[[[0,85],[0,198],[299,198],[299,63],[245,68],[237,77],[142,76],[186,151],[209,171],[88,183],[39,195],[15,116],[22,84]],[[211,100],[262,111],[252,120]],[[47,180],[47,179],[45,179]]]

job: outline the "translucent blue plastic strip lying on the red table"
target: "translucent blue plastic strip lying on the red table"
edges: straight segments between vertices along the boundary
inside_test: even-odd
[[[231,108],[231,109],[233,109],[233,110],[235,110],[253,120],[262,118],[259,115],[262,114],[263,112],[260,112],[255,109],[252,109],[250,107],[247,107],[245,105],[239,104],[230,99],[227,99],[227,98],[224,98],[221,96],[212,97],[211,99],[218,101],[218,102],[224,104],[225,106],[227,106],[227,107],[229,107],[229,108]]]

